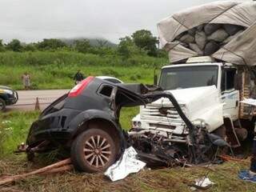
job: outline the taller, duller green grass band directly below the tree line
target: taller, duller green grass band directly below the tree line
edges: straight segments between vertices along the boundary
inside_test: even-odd
[[[35,51],[0,53],[0,66],[162,66],[166,58],[134,55],[124,59],[115,54],[81,54],[74,51]]]

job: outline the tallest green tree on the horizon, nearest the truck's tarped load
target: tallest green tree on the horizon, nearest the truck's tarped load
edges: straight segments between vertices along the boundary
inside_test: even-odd
[[[136,46],[147,51],[150,56],[158,56],[158,38],[154,37],[150,30],[137,30],[131,35]]]

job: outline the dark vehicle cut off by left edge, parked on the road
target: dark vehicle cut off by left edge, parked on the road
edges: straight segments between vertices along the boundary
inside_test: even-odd
[[[0,111],[6,106],[14,105],[18,101],[18,93],[8,86],[0,86]]]

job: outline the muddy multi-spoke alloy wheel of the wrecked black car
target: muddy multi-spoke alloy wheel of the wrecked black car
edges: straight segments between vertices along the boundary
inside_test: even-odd
[[[76,170],[94,173],[111,166],[117,158],[118,151],[110,134],[93,128],[75,138],[70,154]]]

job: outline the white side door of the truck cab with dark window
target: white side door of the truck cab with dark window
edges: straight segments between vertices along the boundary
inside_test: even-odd
[[[232,120],[239,117],[239,90],[234,89],[234,77],[237,73],[235,68],[224,68],[222,70],[222,102],[223,113],[230,114]]]

